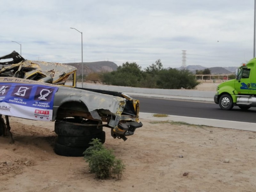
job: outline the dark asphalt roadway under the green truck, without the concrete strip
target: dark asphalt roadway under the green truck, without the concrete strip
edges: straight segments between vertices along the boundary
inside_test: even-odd
[[[140,112],[187,116],[207,119],[220,119],[240,122],[256,122],[256,108],[242,111],[238,107],[233,110],[221,110],[215,103],[189,102],[156,98],[136,97],[140,100]]]

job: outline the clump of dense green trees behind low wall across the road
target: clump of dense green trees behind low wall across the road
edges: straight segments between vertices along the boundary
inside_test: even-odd
[[[199,82],[188,70],[164,69],[161,60],[141,71],[137,63],[123,63],[116,71],[102,75],[102,82],[117,86],[161,89],[194,89]]]

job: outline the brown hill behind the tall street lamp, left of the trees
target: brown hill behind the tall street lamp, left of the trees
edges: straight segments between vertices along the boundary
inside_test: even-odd
[[[82,74],[82,63],[63,63],[66,65],[71,65],[77,68],[77,75]],[[83,62],[84,74],[88,75],[92,72],[111,72],[117,69],[117,65],[111,61],[96,61],[96,62]]]

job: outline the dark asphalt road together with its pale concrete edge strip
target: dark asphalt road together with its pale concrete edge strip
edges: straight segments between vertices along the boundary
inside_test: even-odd
[[[256,131],[256,110],[242,111],[234,108],[224,111],[217,104],[168,99],[134,97],[140,100],[140,118],[158,121],[181,121],[189,124],[207,125],[228,129]],[[154,117],[167,114],[168,117]],[[246,120],[247,119],[247,120]]]

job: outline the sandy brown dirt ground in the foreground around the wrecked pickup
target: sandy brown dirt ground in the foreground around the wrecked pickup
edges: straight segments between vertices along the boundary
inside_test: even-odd
[[[11,117],[15,143],[0,137],[0,191],[256,191],[256,132],[140,120],[126,141],[104,128],[104,145],[126,170],[121,180],[96,180],[83,157],[54,153],[53,122]]]

